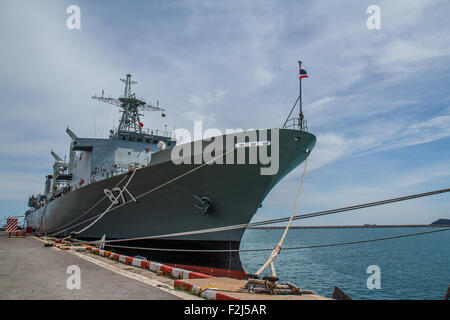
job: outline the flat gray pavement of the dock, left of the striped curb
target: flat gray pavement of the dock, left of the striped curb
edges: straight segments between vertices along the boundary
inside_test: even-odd
[[[68,289],[69,266],[80,270],[80,289]],[[126,272],[126,270],[124,270]],[[76,254],[44,247],[36,238],[0,233],[0,299],[178,300],[155,286],[118,274]]]

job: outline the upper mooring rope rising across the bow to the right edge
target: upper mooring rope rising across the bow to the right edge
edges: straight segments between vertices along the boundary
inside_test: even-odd
[[[331,210],[295,215],[292,219],[293,220],[301,220],[301,219],[307,219],[307,218],[314,218],[314,217],[319,217],[319,216],[324,216],[324,215],[331,215],[331,214],[335,214],[335,213],[359,210],[359,209],[375,207],[375,206],[380,206],[380,205],[385,205],[385,204],[390,204],[390,203],[395,203],[395,202],[400,202],[400,201],[428,197],[428,196],[442,194],[442,193],[446,193],[446,192],[450,192],[450,188],[434,190],[434,191],[424,192],[424,193],[418,193],[418,194],[413,194],[413,195],[408,195],[408,196],[403,196],[403,197],[391,198],[391,199],[386,199],[386,200],[381,200],[381,201],[376,201],[376,202],[368,202],[368,203],[364,203],[364,204],[353,205],[353,206],[343,207],[343,208],[338,208],[338,209],[331,209]],[[182,236],[189,236],[189,235],[197,235],[197,234],[211,233],[211,232],[222,232],[222,231],[229,231],[229,230],[234,230],[234,229],[243,229],[243,228],[248,228],[248,227],[257,227],[257,226],[269,225],[269,224],[274,224],[274,223],[286,222],[289,219],[290,219],[289,217],[285,217],[285,218],[270,219],[270,220],[252,222],[252,223],[244,223],[244,224],[230,225],[230,226],[224,226],[224,227],[193,230],[193,231],[178,232],[178,233],[170,233],[170,234],[163,234],[163,235],[106,240],[105,243],[132,241],[132,240],[161,239],[161,238],[169,238],[169,237],[182,237]],[[94,242],[97,242],[97,241],[90,241],[89,243],[94,243]]]

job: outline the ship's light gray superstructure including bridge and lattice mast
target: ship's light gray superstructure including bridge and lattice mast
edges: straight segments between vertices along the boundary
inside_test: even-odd
[[[171,132],[143,129],[140,120],[141,111],[161,112],[165,109],[148,104],[142,98],[131,93],[131,74],[125,79],[123,97],[118,99],[93,96],[92,99],[115,105],[121,109],[122,117],[117,129],[111,129],[109,138],[80,138],[67,127],[71,138],[69,162],[64,161],[53,150],[53,174],[45,177],[44,192],[29,199],[30,207],[40,207],[67,192],[76,190],[92,182],[107,179],[127,172],[132,167],[148,164],[151,154],[176,144]],[[102,92],[103,93],[103,92]]]

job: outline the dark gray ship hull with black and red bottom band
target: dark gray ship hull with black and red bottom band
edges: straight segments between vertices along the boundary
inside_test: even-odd
[[[259,131],[256,132],[259,136]],[[223,138],[225,141],[227,135]],[[103,235],[107,240],[130,239],[246,224],[269,191],[305,160],[306,150],[312,150],[315,142],[316,138],[307,132],[280,129],[279,169],[275,175],[261,175],[260,169],[266,166],[259,163],[176,165],[171,160],[171,149],[159,151],[152,154],[148,166],[134,173],[91,183],[32,211],[26,217],[27,225],[56,237],[78,232],[111,206],[105,189],[123,187],[127,182],[126,189],[137,198],[137,202],[131,201],[130,194],[124,192],[126,204],[113,205],[113,210],[81,232],[79,239],[99,240]],[[202,149],[208,143],[204,141]],[[249,148],[246,148],[247,156],[248,153]],[[211,200],[210,212],[205,213],[198,208],[197,197]],[[244,231],[243,228],[130,240],[110,243],[105,248],[213,275],[244,278],[237,252],[192,251],[239,249]]]

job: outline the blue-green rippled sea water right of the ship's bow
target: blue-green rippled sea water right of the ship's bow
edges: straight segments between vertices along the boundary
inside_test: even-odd
[[[433,230],[432,228],[291,229],[284,247],[357,241]],[[241,249],[273,248],[283,230],[246,230]],[[248,273],[255,273],[270,252],[241,252]],[[380,289],[367,279],[380,268]],[[331,297],[334,286],[352,299],[438,299],[450,284],[450,231],[336,247],[282,250],[275,260],[280,281]],[[264,274],[269,274],[267,270]]]

